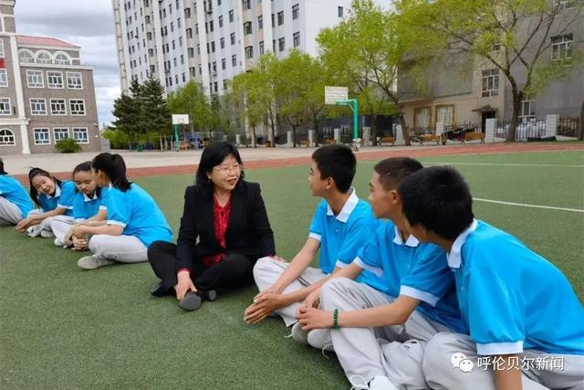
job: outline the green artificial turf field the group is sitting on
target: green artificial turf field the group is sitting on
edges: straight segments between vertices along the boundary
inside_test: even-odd
[[[452,163],[471,186],[478,218],[516,235],[562,269],[584,297],[584,153],[508,153],[423,158]],[[368,195],[374,162],[359,163],[355,187]],[[262,185],[279,256],[307,237],[318,199],[308,166],[252,169]],[[193,175],[137,178],[174,233]],[[501,204],[494,202],[506,202]],[[536,206],[536,207],[533,207]],[[255,288],[220,294],[185,312],[153,298],[148,264],[82,271],[80,255],[52,240],[0,228],[0,388],[342,389],[334,356],[284,338],[279,319],[246,325]],[[545,299],[545,297],[541,297]]]

